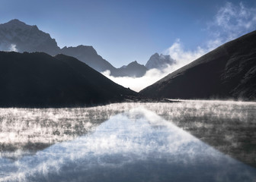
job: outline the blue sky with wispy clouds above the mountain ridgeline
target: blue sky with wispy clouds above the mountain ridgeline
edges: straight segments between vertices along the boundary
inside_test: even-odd
[[[36,24],[58,45],[93,45],[116,67],[155,52],[193,59],[256,30],[256,1],[2,0],[0,24]]]

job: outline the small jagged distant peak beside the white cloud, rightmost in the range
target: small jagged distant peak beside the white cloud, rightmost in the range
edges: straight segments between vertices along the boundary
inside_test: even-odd
[[[175,61],[173,58],[171,58],[170,55],[159,55],[158,53],[155,53],[149,58],[149,61],[146,63],[146,67],[148,69],[156,68],[162,70],[165,68],[168,64],[174,64]]]

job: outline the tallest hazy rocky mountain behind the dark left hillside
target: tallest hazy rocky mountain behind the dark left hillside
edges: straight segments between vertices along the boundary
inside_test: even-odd
[[[55,55],[59,47],[49,33],[39,30],[36,25],[27,25],[14,19],[0,24],[0,49],[16,52],[46,52]]]

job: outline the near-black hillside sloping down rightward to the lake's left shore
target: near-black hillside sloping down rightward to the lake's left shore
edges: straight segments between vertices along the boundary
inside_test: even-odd
[[[59,107],[120,102],[137,96],[66,55],[0,52],[1,107]]]

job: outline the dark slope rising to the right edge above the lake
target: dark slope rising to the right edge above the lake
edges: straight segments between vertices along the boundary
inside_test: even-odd
[[[219,46],[140,93],[172,99],[256,99],[256,31]]]

